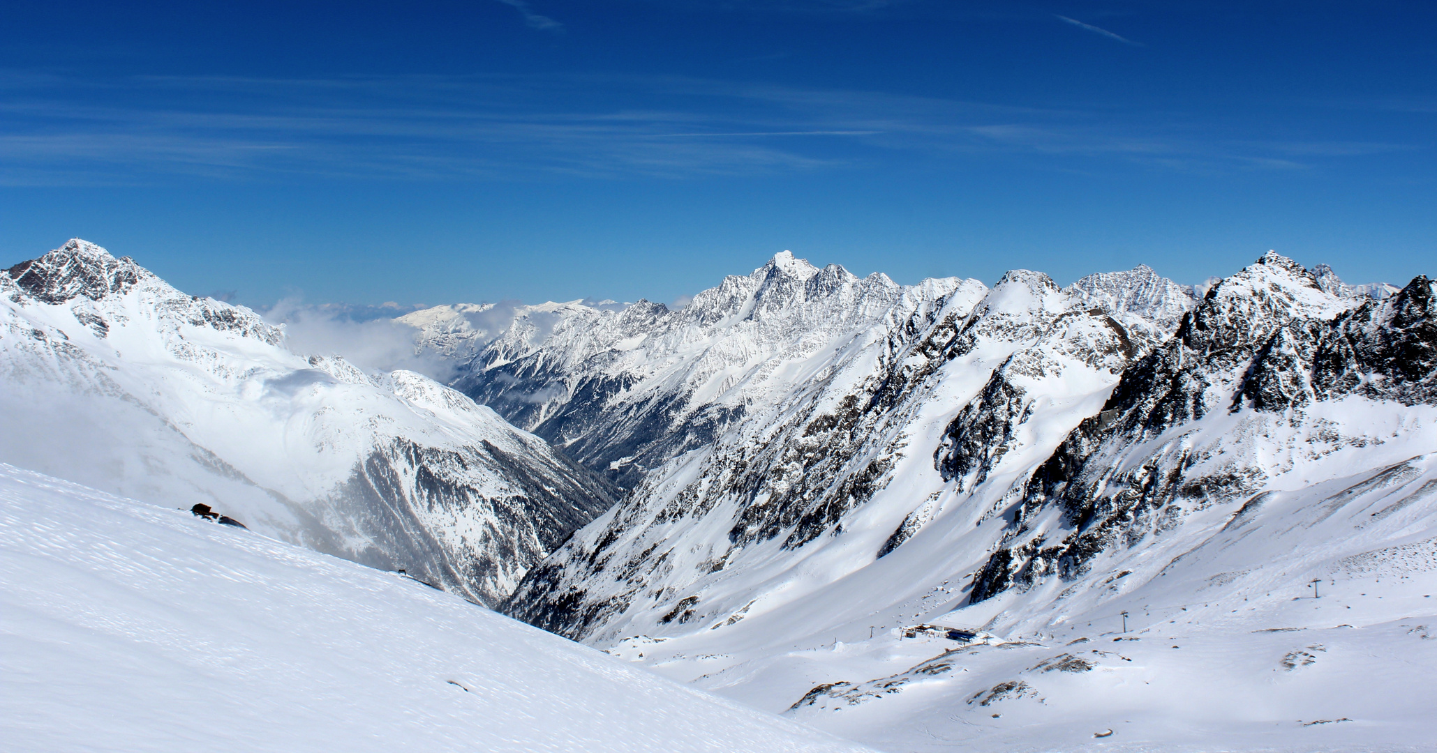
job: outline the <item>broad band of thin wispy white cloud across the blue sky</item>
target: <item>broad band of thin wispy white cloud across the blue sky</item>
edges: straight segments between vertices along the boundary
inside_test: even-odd
[[[615,106],[625,102],[627,106]],[[1263,169],[1401,148],[1167,118],[680,76],[0,75],[0,182],[687,179],[1003,158]],[[935,162],[937,161],[937,162]],[[1095,162],[1096,161],[1096,162]]]

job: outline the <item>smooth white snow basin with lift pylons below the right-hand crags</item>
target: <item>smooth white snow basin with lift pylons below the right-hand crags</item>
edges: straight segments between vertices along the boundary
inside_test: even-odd
[[[770,594],[739,621],[601,644],[892,752],[1430,750],[1437,412],[1364,399],[1312,410],[1312,433],[1357,416],[1364,429],[1325,446],[1292,436],[1292,416],[1214,419],[1203,427],[1214,442],[1269,433],[1292,447],[1269,463],[1272,491],[1115,549],[1075,581],[966,605],[996,521],[974,524],[980,511],[960,506],[802,598]],[[1385,442],[1357,446],[1364,437]],[[859,557],[877,544],[856,525],[844,538],[862,541],[826,549]],[[825,581],[839,557],[800,568]],[[764,594],[763,575],[734,572],[700,594]],[[1007,643],[891,634],[924,622],[987,627]],[[1112,739],[1094,737],[1108,729]]]

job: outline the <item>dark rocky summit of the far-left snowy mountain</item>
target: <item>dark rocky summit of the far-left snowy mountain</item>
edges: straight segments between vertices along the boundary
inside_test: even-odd
[[[10,267],[6,274],[36,300],[60,304],[82,295],[101,300],[109,294],[124,294],[149,273],[129,257],[116,260],[89,241],[70,238],[40,258]]]

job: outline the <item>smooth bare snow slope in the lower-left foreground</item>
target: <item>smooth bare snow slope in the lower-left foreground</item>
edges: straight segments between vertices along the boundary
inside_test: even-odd
[[[0,465],[0,747],[861,750],[458,597]]]

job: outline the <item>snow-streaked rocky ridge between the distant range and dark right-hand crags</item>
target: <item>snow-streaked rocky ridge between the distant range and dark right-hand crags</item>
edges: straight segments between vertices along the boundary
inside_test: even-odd
[[[946,482],[976,506],[997,505],[1015,469],[1096,412],[1138,356],[1114,314],[1030,271],[986,291],[908,291],[839,341],[805,367],[816,379],[650,473],[504,608],[595,643],[716,615],[731,624],[764,588],[718,584],[792,578],[789,568],[826,557],[813,552],[852,548],[851,536],[881,532],[845,567],[887,557],[960,503]],[[862,529],[856,516],[869,519]]]

